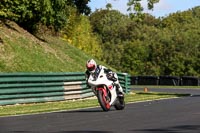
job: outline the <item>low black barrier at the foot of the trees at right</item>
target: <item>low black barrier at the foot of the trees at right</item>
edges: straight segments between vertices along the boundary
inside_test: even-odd
[[[192,76],[131,76],[131,85],[199,86],[200,79]]]

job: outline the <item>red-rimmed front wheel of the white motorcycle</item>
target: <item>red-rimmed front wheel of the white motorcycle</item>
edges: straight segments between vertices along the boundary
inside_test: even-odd
[[[110,110],[110,100],[107,97],[107,94],[105,94],[105,92],[103,91],[103,89],[100,89],[97,91],[97,97],[98,97],[98,101],[99,104],[101,106],[101,108],[103,109],[103,111],[109,111]]]

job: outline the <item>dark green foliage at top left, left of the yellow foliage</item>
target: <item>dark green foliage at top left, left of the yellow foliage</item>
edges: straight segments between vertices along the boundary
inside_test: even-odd
[[[79,13],[90,13],[89,0],[2,0],[0,16],[17,22],[30,32],[37,24],[52,26],[60,31],[67,23],[70,7],[77,7]]]

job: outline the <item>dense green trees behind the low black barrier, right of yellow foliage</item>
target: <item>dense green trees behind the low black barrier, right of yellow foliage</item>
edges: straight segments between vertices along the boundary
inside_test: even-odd
[[[115,10],[97,10],[90,20],[101,37],[104,61],[120,71],[199,76],[199,9],[158,19],[144,14],[139,23]]]

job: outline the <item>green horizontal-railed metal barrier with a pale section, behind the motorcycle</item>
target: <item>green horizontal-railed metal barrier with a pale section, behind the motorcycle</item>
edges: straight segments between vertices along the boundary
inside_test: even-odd
[[[119,74],[128,92],[128,75]],[[0,105],[82,99],[94,96],[83,72],[71,73],[1,73]]]

